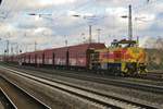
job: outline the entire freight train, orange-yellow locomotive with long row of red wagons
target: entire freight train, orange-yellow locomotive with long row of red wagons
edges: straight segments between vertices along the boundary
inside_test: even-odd
[[[114,40],[110,47],[91,43],[5,57],[20,65],[90,70],[114,75],[146,73],[146,52],[135,40]]]

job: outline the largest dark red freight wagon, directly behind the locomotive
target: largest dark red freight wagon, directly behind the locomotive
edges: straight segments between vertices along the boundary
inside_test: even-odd
[[[105,48],[104,44],[83,44],[77,46],[72,46],[68,48],[70,53],[70,65],[88,68],[90,49],[102,49]]]

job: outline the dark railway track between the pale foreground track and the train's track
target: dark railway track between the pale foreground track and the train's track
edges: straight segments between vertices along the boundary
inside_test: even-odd
[[[16,70],[16,69],[15,69]],[[28,70],[28,69],[26,69]],[[23,70],[21,70],[23,71]],[[38,69],[32,69],[30,72],[37,71],[40,73],[50,73],[50,71],[47,70],[38,70]],[[24,71],[23,71],[24,72]],[[25,72],[27,73],[27,72]],[[34,72],[35,74],[36,72]],[[50,73],[52,74],[52,73]],[[77,78],[82,81],[89,81],[89,82],[96,82],[104,85],[114,85],[118,87],[126,87],[126,88],[133,88],[137,90],[142,90],[142,92],[148,92],[148,93],[154,93],[154,94],[163,94],[163,86],[156,86],[156,85],[149,85],[149,84],[143,84],[143,83],[135,83],[130,81],[123,81],[123,80],[115,80],[115,78],[104,78],[104,77],[98,77],[98,76],[89,76],[89,75],[80,75],[77,73],[68,73],[68,72],[62,72],[60,71],[59,73],[54,73],[57,75],[61,76],[66,76],[66,77],[72,77],[72,78]]]

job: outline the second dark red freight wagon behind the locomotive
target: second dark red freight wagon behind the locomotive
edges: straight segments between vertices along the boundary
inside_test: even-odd
[[[68,48],[62,47],[54,50],[55,65],[68,65]]]

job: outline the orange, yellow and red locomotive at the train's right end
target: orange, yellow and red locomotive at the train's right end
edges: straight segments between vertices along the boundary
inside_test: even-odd
[[[90,69],[115,75],[146,73],[146,51],[136,40],[114,40],[110,47],[91,53]]]

